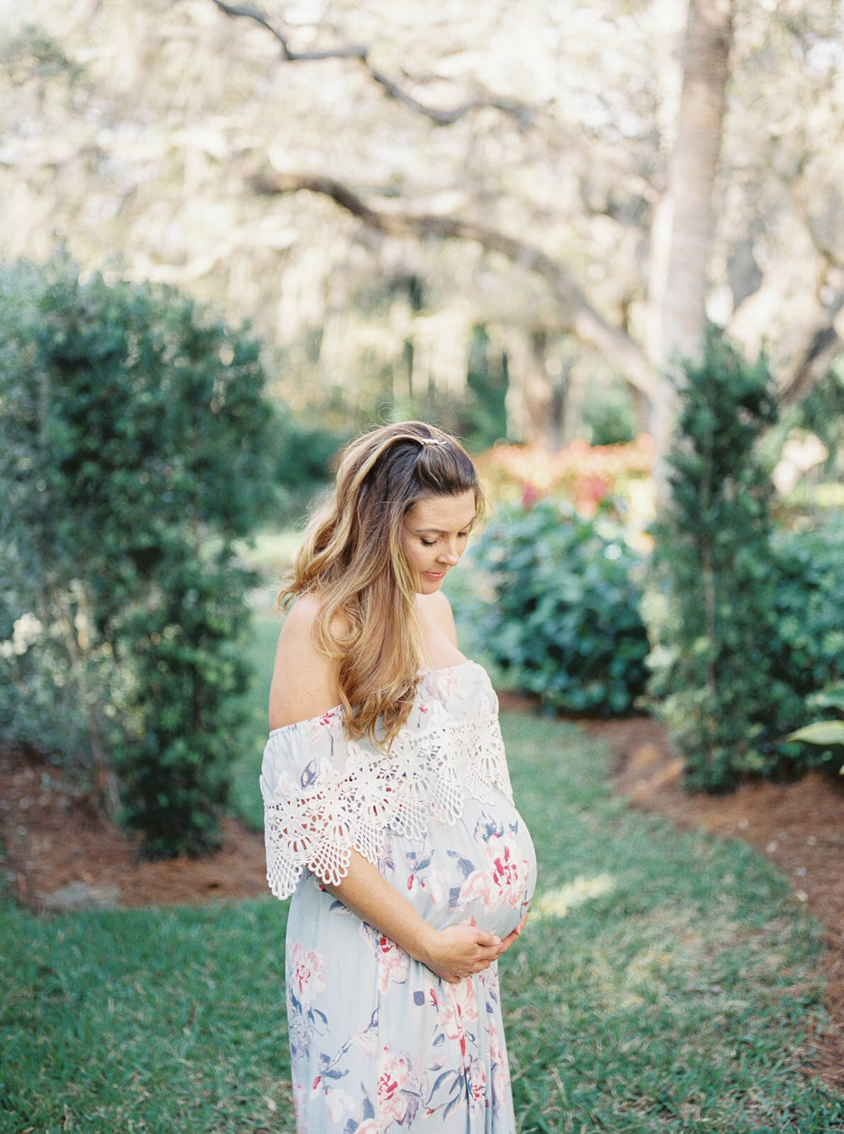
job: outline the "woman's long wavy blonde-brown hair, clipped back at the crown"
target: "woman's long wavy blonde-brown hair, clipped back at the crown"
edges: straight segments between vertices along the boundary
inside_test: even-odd
[[[404,518],[423,497],[472,491],[478,473],[463,446],[423,422],[364,433],[343,451],[331,498],[312,516],[279,609],[319,596],[313,637],[339,660],[343,712],[353,739],[388,748],[407,720],[419,683],[416,574]]]

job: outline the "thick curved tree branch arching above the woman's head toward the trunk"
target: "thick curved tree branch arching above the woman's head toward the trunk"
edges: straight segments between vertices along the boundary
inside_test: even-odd
[[[597,347],[619,373],[645,397],[656,390],[656,373],[644,350],[625,331],[609,323],[586,299],[565,265],[541,248],[524,244],[505,232],[471,220],[436,213],[408,213],[372,209],[347,185],[331,177],[309,174],[256,174],[251,178],[255,193],[279,196],[305,189],[329,197],[369,228],[389,236],[436,237],[472,240],[488,252],[497,252],[512,263],[537,272],[550,286],[563,308],[567,329]]]

